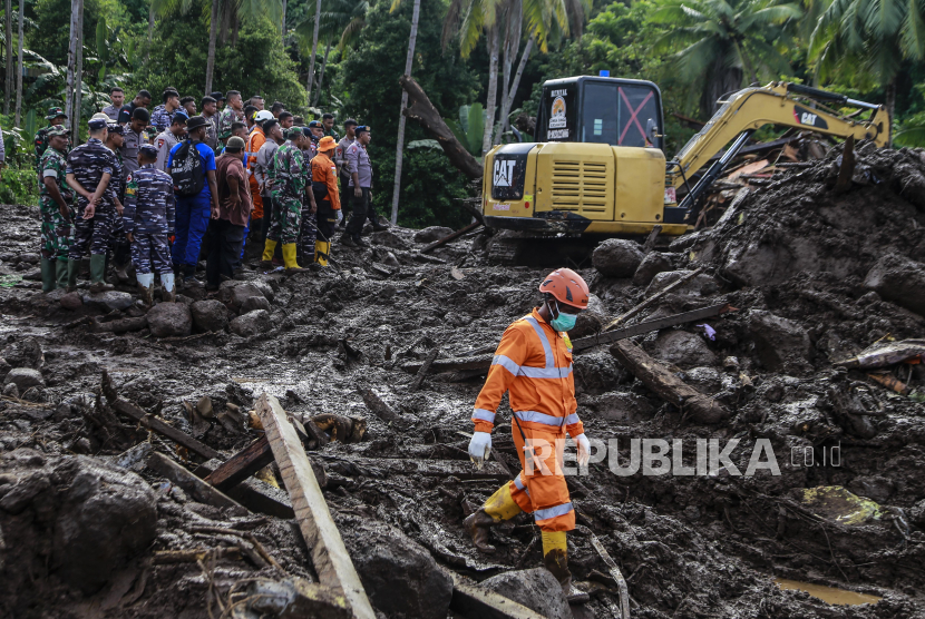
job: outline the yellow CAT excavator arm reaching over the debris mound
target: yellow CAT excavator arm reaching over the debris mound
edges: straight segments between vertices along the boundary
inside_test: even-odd
[[[869,119],[859,120],[840,116],[825,107],[810,108],[800,99],[810,99],[824,106],[856,107],[860,111],[872,110],[872,114]],[[666,164],[666,186],[678,188],[684,185],[713,155],[732,141],[732,146],[698,183],[702,191],[719,176],[749,137],[765,125],[796,127],[846,139],[848,136],[854,136],[856,140],[872,139],[877,146],[886,146],[889,140],[889,115],[884,106],[798,83],[772,82],[760,88],[744,88],[731,95],[703,129]],[[699,194],[695,191],[698,187],[689,187],[690,199],[685,198],[681,206],[691,206]]]

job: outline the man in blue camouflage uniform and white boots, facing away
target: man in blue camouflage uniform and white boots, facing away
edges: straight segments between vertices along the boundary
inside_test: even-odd
[[[132,243],[132,262],[138,277],[142,301],[150,306],[154,274],[160,274],[163,298],[176,298],[174,271],[167,239],[174,234],[176,202],[171,175],[155,167],[157,148],[150,144],[138,149],[137,170],[128,175],[125,187],[123,225],[126,238]]]

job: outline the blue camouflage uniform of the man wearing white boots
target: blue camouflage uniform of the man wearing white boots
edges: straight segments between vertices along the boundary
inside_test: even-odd
[[[123,225],[132,233],[132,262],[137,273],[171,273],[167,237],[174,234],[176,200],[171,176],[145,164],[128,175]]]

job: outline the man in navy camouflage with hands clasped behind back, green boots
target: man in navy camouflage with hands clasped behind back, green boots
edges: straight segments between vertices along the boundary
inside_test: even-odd
[[[117,173],[117,161],[104,144],[106,120],[94,118],[87,125],[90,138],[68,155],[67,183],[77,193],[74,240],[68,248],[68,291],[77,288],[77,271],[89,249],[90,292],[97,293],[113,289],[103,278],[116,217],[109,183]]]

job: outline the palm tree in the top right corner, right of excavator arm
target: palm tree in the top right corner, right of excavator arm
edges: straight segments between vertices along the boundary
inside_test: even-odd
[[[834,0],[809,41],[809,58],[825,80],[844,73],[854,82],[886,87],[894,118],[896,78],[903,60],[925,57],[925,6],[895,0]]]

